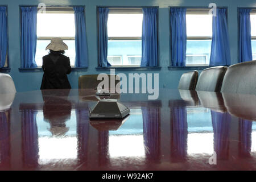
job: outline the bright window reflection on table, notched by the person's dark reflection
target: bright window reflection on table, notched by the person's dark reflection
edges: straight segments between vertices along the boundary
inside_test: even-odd
[[[43,111],[36,114],[38,126],[39,164],[48,164],[59,160],[77,162],[77,123],[76,112],[65,122],[67,132],[62,136],[52,136],[49,122],[44,121]]]

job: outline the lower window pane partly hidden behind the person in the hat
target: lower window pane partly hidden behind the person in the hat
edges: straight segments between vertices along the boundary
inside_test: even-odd
[[[48,55],[49,50],[46,50],[46,46],[51,42],[51,40],[38,40],[36,43],[36,56],[35,61],[38,67],[42,66],[43,59],[42,57]],[[68,50],[65,51],[65,56],[68,56],[70,59],[70,64],[75,65],[76,57],[76,48],[75,40],[64,40],[63,41],[68,46]]]

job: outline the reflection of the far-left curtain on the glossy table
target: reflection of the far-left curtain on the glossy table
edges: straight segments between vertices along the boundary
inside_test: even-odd
[[[6,114],[2,112],[0,113],[0,164],[4,164],[10,157],[9,135]]]

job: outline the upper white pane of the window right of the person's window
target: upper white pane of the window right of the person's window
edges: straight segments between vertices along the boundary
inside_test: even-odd
[[[109,14],[109,37],[141,37],[143,14]]]

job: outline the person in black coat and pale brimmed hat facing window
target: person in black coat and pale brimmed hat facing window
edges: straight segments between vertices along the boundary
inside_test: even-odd
[[[49,54],[43,56],[44,75],[40,89],[71,89],[67,77],[71,72],[70,61],[64,55],[64,50],[68,49],[67,44],[61,38],[52,38],[47,49]]]

